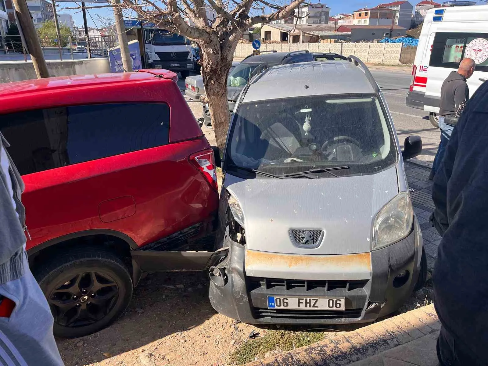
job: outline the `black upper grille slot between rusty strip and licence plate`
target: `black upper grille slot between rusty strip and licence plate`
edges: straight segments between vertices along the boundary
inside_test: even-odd
[[[256,289],[264,287],[265,290],[273,287],[284,287],[285,291],[292,288],[304,288],[305,291],[314,288],[324,288],[325,291],[335,290],[337,288],[344,288],[346,291],[352,291],[357,288],[366,286],[369,280],[349,280],[349,281],[316,281],[316,280],[287,280],[277,278],[258,278],[249,277],[250,287]]]

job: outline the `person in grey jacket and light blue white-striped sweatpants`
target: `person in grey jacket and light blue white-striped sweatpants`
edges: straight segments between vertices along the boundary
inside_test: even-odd
[[[7,147],[0,133],[0,364],[58,366],[54,319],[25,252],[24,184]]]

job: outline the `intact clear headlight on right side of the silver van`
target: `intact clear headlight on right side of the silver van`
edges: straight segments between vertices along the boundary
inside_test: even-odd
[[[373,250],[404,239],[413,224],[413,208],[407,192],[400,192],[386,203],[374,220]]]

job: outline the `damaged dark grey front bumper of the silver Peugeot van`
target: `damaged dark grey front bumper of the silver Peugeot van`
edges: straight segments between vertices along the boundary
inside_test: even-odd
[[[219,313],[248,324],[346,324],[372,322],[405,303],[417,283],[422,255],[422,236],[417,221],[407,238],[367,255],[369,273],[338,273],[323,266],[307,279],[303,268],[291,266],[283,278],[266,277],[264,272],[246,274],[246,248],[224,236],[224,248],[209,269],[210,303]],[[263,253],[263,252],[260,252]],[[272,255],[272,253],[271,253]],[[346,257],[358,255],[326,256]],[[310,256],[310,257],[313,257]],[[325,256],[323,256],[325,257]],[[349,258],[349,259],[350,259]],[[349,261],[350,263],[350,261]],[[363,261],[363,265],[364,265]],[[347,265],[346,265],[347,267]],[[356,265],[357,267],[357,265]],[[361,273],[362,272],[362,273]],[[299,275],[302,273],[302,275]],[[258,276],[256,276],[258,274]],[[342,276],[342,277],[341,277]],[[345,310],[268,309],[267,296],[345,297]]]

